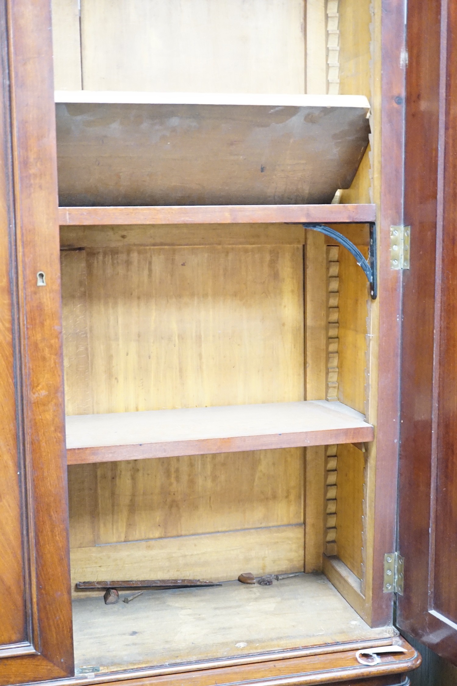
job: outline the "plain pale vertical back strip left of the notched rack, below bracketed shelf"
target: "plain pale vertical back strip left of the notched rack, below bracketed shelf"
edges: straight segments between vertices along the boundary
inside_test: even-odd
[[[305,270],[305,385],[306,400],[324,400],[327,391],[327,248],[321,233],[308,230]],[[306,448],[305,571],[322,570],[326,525],[326,448]]]

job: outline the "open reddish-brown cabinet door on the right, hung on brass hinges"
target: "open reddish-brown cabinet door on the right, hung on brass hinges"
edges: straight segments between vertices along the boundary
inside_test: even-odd
[[[457,4],[408,3],[397,624],[457,663]]]

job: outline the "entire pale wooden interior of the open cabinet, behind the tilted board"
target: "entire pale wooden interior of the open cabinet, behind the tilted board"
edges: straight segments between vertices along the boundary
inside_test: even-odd
[[[128,103],[135,91],[359,95],[373,106],[379,21],[369,0],[53,0],[55,89],[60,102],[66,91],[106,102],[92,92],[108,91]],[[333,202],[378,200],[375,109],[369,121],[354,180]],[[70,190],[84,170],[73,181],[71,171]],[[122,178],[122,157],[112,173]],[[368,224],[334,228],[368,255]],[[378,309],[354,257],[277,222],[69,225],[60,244],[77,669],[192,669],[391,641],[392,627],[370,626]],[[306,430],[285,423],[273,441],[269,425],[290,414],[281,404],[258,429],[255,406],[305,401],[327,401]],[[214,413],[240,405],[233,436],[244,444],[219,436]],[[192,408],[189,419],[172,412]],[[156,410],[171,414],[145,439],[133,413]],[[300,575],[241,584],[247,571]],[[115,605],[75,588],[179,578],[223,585]]]

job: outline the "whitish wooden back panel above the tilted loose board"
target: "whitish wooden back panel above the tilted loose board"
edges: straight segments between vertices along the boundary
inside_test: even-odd
[[[304,93],[304,12],[304,0],[83,0],[83,87]]]

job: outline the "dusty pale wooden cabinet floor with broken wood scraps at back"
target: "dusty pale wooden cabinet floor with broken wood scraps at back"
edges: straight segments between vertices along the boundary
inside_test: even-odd
[[[75,666],[100,672],[367,641],[393,632],[369,628],[321,574],[263,587],[229,581],[208,589],[145,591],[129,604],[105,605],[102,593],[77,598],[73,630]]]

